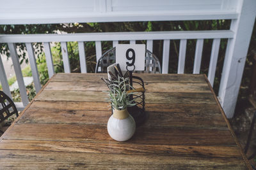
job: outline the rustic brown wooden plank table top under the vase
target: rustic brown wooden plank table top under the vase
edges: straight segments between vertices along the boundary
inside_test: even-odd
[[[108,135],[106,74],[56,74],[0,138],[0,169],[250,167],[204,75],[139,75],[149,117],[132,139]]]

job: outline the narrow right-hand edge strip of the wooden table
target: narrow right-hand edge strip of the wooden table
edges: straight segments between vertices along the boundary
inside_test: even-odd
[[[211,86],[210,81],[208,80],[206,74],[204,74],[204,76],[205,76],[205,81],[207,82],[209,88],[211,89],[211,92],[212,92],[212,94],[213,94],[213,96],[214,96],[214,99],[215,99],[216,103],[218,104],[218,106],[219,106],[219,108],[220,108],[221,115],[223,115],[223,118],[225,119],[225,122],[226,122],[226,124],[228,125],[228,129],[229,129],[229,131],[231,132],[232,137],[235,139],[236,145],[238,146],[238,148],[239,148],[239,150],[240,150],[240,152],[241,152],[241,155],[242,155],[242,157],[243,157],[243,159],[244,159],[244,163],[246,164],[246,166],[248,167],[248,169],[253,170],[253,169],[252,169],[252,166],[251,166],[251,164],[250,164],[250,162],[249,162],[249,160],[247,159],[246,155],[245,155],[244,152],[243,152],[243,148],[242,148],[241,144],[239,143],[238,139],[236,138],[236,134],[235,134],[235,132],[234,132],[232,126],[230,125],[230,123],[229,123],[229,121],[228,121],[228,119],[227,119],[227,116],[225,115],[225,112],[224,112],[223,108],[221,107],[220,101],[218,100],[218,98],[216,97],[216,94],[215,94],[214,90],[212,89],[212,86]]]

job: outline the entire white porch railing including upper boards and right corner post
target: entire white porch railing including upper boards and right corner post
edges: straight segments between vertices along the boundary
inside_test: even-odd
[[[46,3],[45,3],[46,2]],[[42,4],[40,8],[44,8]],[[80,2],[80,1],[79,1]],[[84,1],[83,4],[90,1]],[[163,1],[161,5],[154,2],[158,1],[143,1],[148,3],[147,6],[143,6],[143,3],[138,1],[132,1],[134,6],[138,3],[138,9],[143,11],[127,11],[126,9],[133,9],[130,4],[126,4],[125,1],[114,0],[95,0],[94,12],[90,13],[76,13],[71,17],[67,17],[67,14],[59,12],[55,15],[56,11],[52,11],[54,16],[46,15],[45,11],[49,10],[45,7],[44,13],[38,11],[36,15],[29,15],[29,13],[20,13],[20,16],[15,16],[15,13],[8,15],[8,17],[0,17],[0,24],[38,24],[38,23],[61,23],[61,22],[125,22],[125,21],[146,21],[146,20],[217,20],[217,19],[230,19],[232,20],[230,29],[224,31],[164,31],[164,32],[105,32],[105,33],[83,33],[83,34],[26,34],[26,35],[1,35],[0,43],[8,43],[8,47],[12,56],[13,66],[15,68],[15,74],[19,83],[20,95],[22,97],[22,105],[18,104],[18,107],[24,108],[28,104],[28,96],[26,95],[26,89],[24,81],[22,79],[19,60],[17,57],[17,50],[15,43],[26,43],[26,47],[29,55],[29,62],[33,73],[33,79],[35,83],[36,92],[40,90],[40,81],[38,78],[38,71],[35,62],[35,55],[33,52],[33,46],[31,43],[43,42],[44,52],[47,60],[47,68],[49,76],[54,74],[54,68],[52,64],[50,42],[61,42],[61,52],[63,56],[63,64],[65,73],[70,73],[70,64],[68,61],[67,42],[78,41],[79,46],[79,59],[81,64],[81,73],[86,73],[86,52],[84,52],[84,43],[87,41],[95,41],[95,50],[97,60],[102,55],[101,42],[113,41],[115,46],[118,41],[129,40],[130,43],[136,43],[136,40],[147,40],[147,49],[152,51],[153,40],[163,40],[163,62],[162,72],[168,73],[168,63],[170,55],[170,40],[180,39],[179,49],[179,62],[177,73],[184,73],[184,64],[186,60],[186,43],[188,39],[197,39],[195,48],[195,62],[193,67],[193,74],[200,72],[200,64],[202,59],[202,50],[204,39],[213,39],[211,60],[209,65],[208,78],[213,85],[216,64],[218,60],[218,52],[220,48],[220,40],[228,39],[227,50],[225,54],[225,61],[223,64],[223,72],[221,74],[221,83],[218,98],[228,118],[234,114],[236,106],[237,95],[239,92],[239,86],[243,75],[244,63],[246,60],[246,54],[248,51],[248,45],[250,43],[250,37],[252,35],[252,28],[255,21],[255,9],[256,3],[253,0],[237,0],[237,1],[200,1],[196,0],[196,5],[188,4],[188,1],[176,1],[170,2]],[[131,2],[130,2],[131,3]],[[172,11],[168,11],[166,4],[173,8]],[[60,3],[61,4],[61,3]],[[56,4],[57,5],[57,4]],[[59,5],[59,4],[58,4]],[[61,4],[63,5],[63,4]],[[75,5],[75,3],[74,3]],[[125,5],[128,7],[125,8]],[[156,6],[158,5],[158,6]],[[182,6],[183,5],[183,6]],[[198,6],[204,6],[199,8]],[[38,6],[29,6],[38,8]],[[145,8],[144,8],[145,7]],[[157,10],[151,10],[152,8]],[[65,8],[68,8],[66,5]],[[148,8],[148,9],[147,9]],[[150,9],[149,9],[150,8]],[[159,9],[158,9],[159,8]],[[1,7],[0,7],[1,9]],[[52,8],[55,10],[55,8]],[[75,9],[75,8],[74,8]],[[118,9],[120,11],[118,11]],[[134,8],[137,9],[137,8]],[[162,9],[162,10],[161,10]],[[28,10],[28,9],[26,9]],[[51,9],[50,9],[51,10]],[[57,9],[58,10],[58,9]],[[72,9],[71,9],[72,10]],[[116,10],[116,11],[115,11]],[[124,10],[124,12],[121,12]],[[28,10],[29,11],[29,10]],[[34,13],[36,10],[32,10]],[[10,11],[6,10],[6,13]],[[26,11],[24,11],[26,12]],[[51,13],[51,11],[49,11]],[[38,15],[38,18],[36,16]],[[7,16],[7,15],[6,15]],[[32,17],[31,17],[32,16]],[[40,17],[39,17],[40,16]],[[79,16],[79,17],[77,17]],[[172,50],[171,50],[172,52]],[[0,59],[0,80],[3,86],[4,92],[10,96],[10,89],[4,73],[3,63]]]

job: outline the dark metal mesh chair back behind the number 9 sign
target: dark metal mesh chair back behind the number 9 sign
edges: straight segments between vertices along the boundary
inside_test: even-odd
[[[107,68],[116,62],[116,48],[111,48],[105,52],[97,61],[95,73],[108,73]],[[99,69],[100,68],[100,69]],[[161,66],[158,58],[154,53],[146,50],[145,53],[145,70],[135,71],[135,73],[161,73]]]

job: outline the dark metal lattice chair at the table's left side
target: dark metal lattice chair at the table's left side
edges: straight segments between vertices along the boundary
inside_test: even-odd
[[[12,99],[4,94],[3,91],[0,90],[0,123],[11,117],[12,115],[19,116],[17,108],[13,103]],[[3,131],[0,131],[0,136],[3,134]]]

